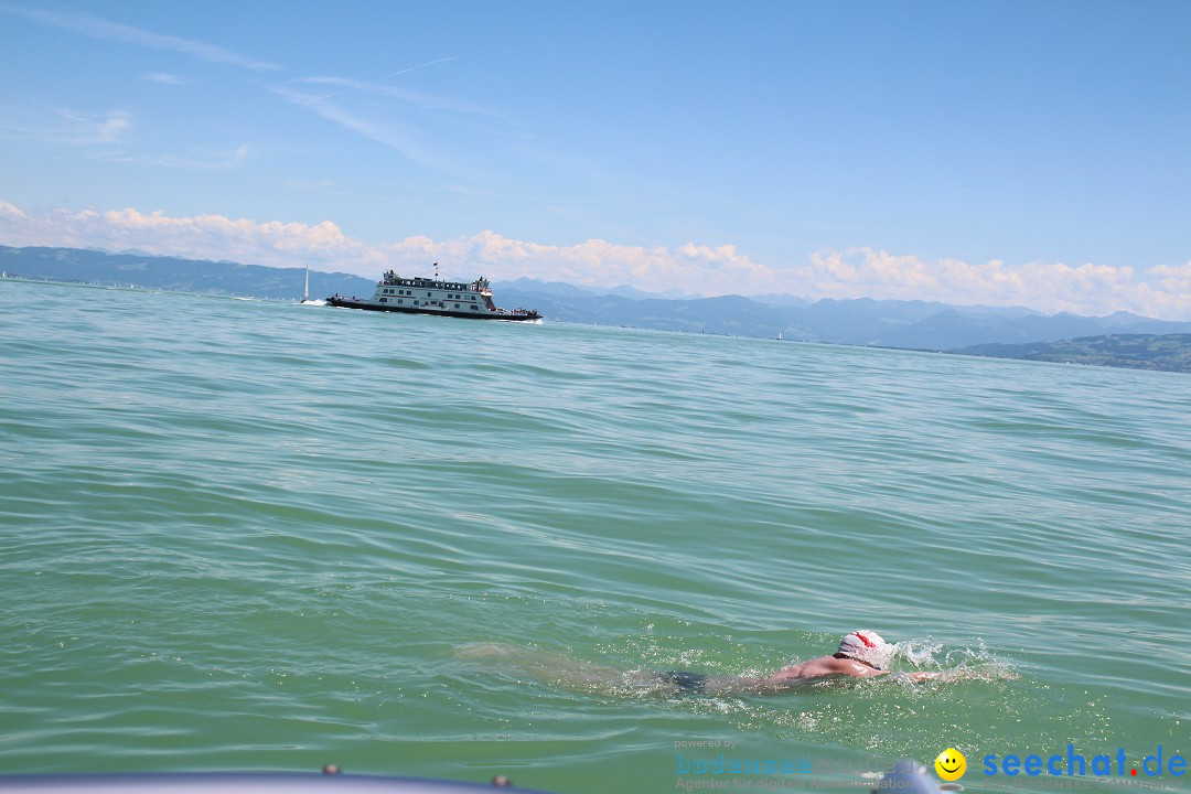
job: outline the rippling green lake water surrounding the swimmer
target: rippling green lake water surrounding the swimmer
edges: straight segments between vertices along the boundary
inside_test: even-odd
[[[4,773],[1191,752],[1184,375],[12,281],[0,368]],[[565,680],[858,627],[971,677]]]

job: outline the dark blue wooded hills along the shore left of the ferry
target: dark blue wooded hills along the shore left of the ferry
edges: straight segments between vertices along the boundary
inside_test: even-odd
[[[149,289],[202,295],[251,295],[301,300],[305,268],[181,260],[146,254],[105,254],[73,248],[8,248],[0,245],[0,270],[10,276],[135,285]],[[372,295],[374,281],[345,273],[310,271],[311,298],[332,293]]]

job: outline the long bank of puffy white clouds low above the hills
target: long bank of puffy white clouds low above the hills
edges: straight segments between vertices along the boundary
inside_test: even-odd
[[[256,221],[224,215],[170,217],[135,208],[31,213],[0,201],[0,243],[6,245],[136,248],[150,254],[232,260],[249,264],[339,270],[375,277],[386,268],[426,273],[432,262],[449,277],[526,276],[575,285],[628,283],[650,292],[701,294],[793,293],[807,298],[937,300],[1021,305],[1079,314],[1130,311],[1191,319],[1191,262],[1137,273],[1129,267],[1000,261],[922,260],[868,248],[819,251],[803,264],[773,267],[735,245],[686,243],[619,245],[590,239],[545,245],[492,231],[448,240],[409,237],[369,245],[331,221]]]

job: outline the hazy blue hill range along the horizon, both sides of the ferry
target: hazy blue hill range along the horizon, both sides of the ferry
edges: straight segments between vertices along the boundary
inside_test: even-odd
[[[453,270],[467,273],[470,263]],[[301,298],[303,268],[264,268],[125,251],[0,246],[10,275],[220,295]],[[474,268],[474,275],[481,270]],[[417,274],[412,274],[417,275]],[[376,274],[380,276],[380,273]],[[343,273],[310,274],[312,298],[372,295],[375,282]],[[1046,315],[1021,306],[950,306],[905,300],[819,300],[794,295],[673,298],[631,287],[591,289],[518,279],[493,285],[506,308],[536,308],[560,323],[626,325],[690,333],[831,342],[919,350],[987,344],[1056,342],[1103,335],[1191,333],[1191,323],[1167,323],[1118,312],[1110,317]],[[984,354],[989,355],[989,354]]]

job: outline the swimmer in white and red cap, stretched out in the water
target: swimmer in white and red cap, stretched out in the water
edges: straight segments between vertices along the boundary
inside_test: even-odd
[[[844,634],[838,650],[831,656],[799,662],[784,667],[768,676],[711,676],[691,670],[656,673],[634,670],[624,673],[615,668],[584,662],[573,662],[554,656],[530,656],[504,645],[470,645],[456,651],[464,658],[494,656],[523,668],[535,677],[566,687],[600,692],[654,694],[768,694],[790,690],[800,684],[813,684],[833,679],[867,679],[888,675],[893,645],[886,643],[875,631],[859,630]],[[939,673],[910,671],[900,674],[910,681],[940,679]]]

